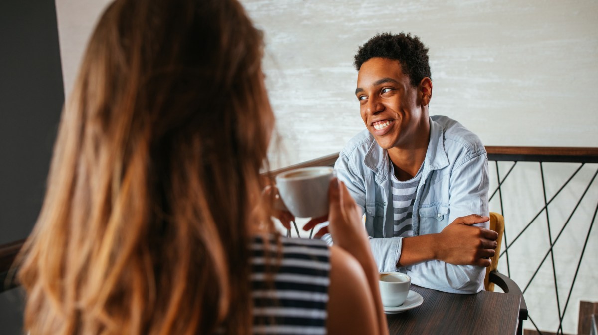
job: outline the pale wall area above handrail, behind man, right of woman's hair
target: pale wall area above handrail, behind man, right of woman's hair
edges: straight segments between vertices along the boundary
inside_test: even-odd
[[[431,114],[486,145],[598,146],[596,1],[242,2],[266,32],[282,165],[338,151],[362,129],[352,59],[379,32],[420,36]]]

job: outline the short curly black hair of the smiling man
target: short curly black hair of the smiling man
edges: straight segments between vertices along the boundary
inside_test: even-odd
[[[355,68],[374,57],[398,60],[405,75],[409,76],[411,85],[417,86],[423,78],[432,78],[428,63],[428,48],[417,36],[410,33],[380,33],[359,47],[355,55]]]

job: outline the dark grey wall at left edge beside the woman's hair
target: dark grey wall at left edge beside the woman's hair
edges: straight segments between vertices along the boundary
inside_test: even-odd
[[[64,95],[54,1],[0,1],[0,244],[33,228]],[[0,294],[0,334],[22,333],[22,297]]]

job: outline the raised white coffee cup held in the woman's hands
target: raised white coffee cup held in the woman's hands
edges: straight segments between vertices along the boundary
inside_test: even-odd
[[[285,207],[296,217],[328,214],[328,188],[334,168],[307,167],[276,176],[276,188]]]

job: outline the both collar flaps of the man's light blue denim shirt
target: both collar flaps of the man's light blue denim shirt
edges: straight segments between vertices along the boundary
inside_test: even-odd
[[[423,175],[427,175],[428,171],[440,170],[449,165],[449,157],[444,149],[443,126],[437,122],[430,120],[430,142],[428,143],[428,150],[426,150],[426,157],[424,158]],[[385,149],[382,149],[376,142],[372,141],[368,152],[364,157],[364,165],[374,171],[376,174],[376,183],[382,184],[388,178],[390,164],[389,156]]]

